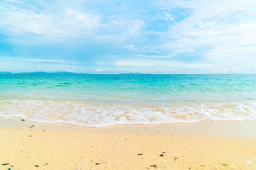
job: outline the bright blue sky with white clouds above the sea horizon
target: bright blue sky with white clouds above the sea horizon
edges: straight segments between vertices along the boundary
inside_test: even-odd
[[[0,0],[0,72],[256,74],[255,0]]]

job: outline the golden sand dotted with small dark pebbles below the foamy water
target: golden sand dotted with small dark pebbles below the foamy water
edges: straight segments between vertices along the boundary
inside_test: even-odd
[[[255,170],[256,121],[88,128],[0,118],[0,146],[3,170]]]

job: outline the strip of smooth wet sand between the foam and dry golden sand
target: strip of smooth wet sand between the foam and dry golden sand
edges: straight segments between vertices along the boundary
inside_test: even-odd
[[[177,135],[201,136],[201,137],[222,137],[222,138],[239,138],[239,139],[256,139],[256,120],[244,121],[204,121],[193,123],[164,123],[164,124],[117,124],[110,126],[90,127],[78,126],[66,123],[38,123],[33,121],[21,121],[16,117],[0,117],[0,126],[7,128],[20,128],[22,123],[37,124],[38,126],[53,127],[77,127],[80,130],[90,129],[95,131],[106,131],[112,129],[115,133],[129,128],[130,131],[139,129],[143,133],[152,133],[161,131],[161,133],[176,133]],[[232,126],[232,128],[230,128]],[[97,129],[97,130],[96,130]],[[195,131],[198,130],[198,131]],[[212,130],[215,130],[212,131]]]

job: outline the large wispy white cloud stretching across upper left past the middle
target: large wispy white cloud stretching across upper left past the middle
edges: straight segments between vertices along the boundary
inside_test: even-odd
[[[110,43],[134,38],[146,26],[143,20],[130,14],[105,15],[98,9],[92,11],[81,8],[84,3],[78,0],[73,3],[34,2],[33,7],[29,2],[20,6],[0,2],[0,29],[5,35],[24,36],[22,40],[31,43],[34,35],[40,36],[37,42],[44,39],[63,41],[75,37]],[[113,7],[106,10],[111,11]]]

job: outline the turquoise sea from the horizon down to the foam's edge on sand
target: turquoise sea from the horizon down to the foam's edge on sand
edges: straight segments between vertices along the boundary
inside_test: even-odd
[[[0,117],[91,127],[256,120],[256,75],[0,74]]]

